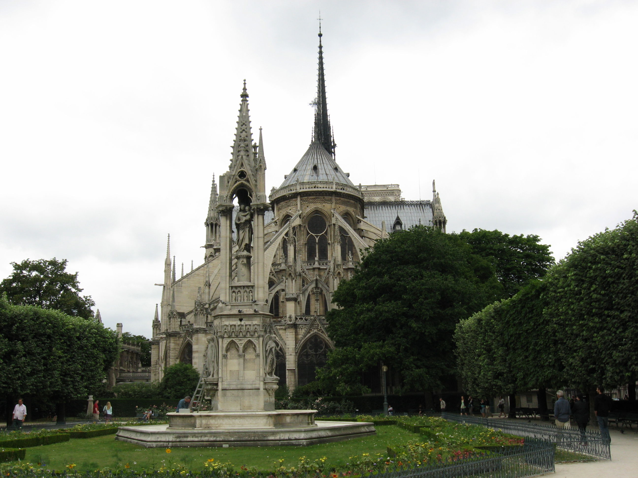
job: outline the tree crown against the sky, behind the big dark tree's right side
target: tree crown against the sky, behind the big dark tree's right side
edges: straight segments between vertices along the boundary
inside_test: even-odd
[[[474,229],[463,231],[459,237],[492,264],[503,284],[505,298],[514,296],[530,280],[543,277],[554,264],[549,245],[541,244],[537,235],[510,236],[501,231]]]

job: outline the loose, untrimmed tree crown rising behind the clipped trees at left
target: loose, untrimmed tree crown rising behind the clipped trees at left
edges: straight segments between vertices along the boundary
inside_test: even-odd
[[[80,296],[78,273],[66,272],[66,259],[25,259],[12,262],[13,273],[0,282],[0,294],[15,305],[35,305],[61,310],[72,317],[93,317],[91,296]]]

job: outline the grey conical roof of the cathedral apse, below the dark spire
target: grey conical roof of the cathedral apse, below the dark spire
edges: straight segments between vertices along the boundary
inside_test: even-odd
[[[339,164],[332,159],[319,140],[311,143],[310,147],[301,157],[299,163],[286,177],[279,189],[299,183],[335,182],[354,187],[352,181],[344,173]]]

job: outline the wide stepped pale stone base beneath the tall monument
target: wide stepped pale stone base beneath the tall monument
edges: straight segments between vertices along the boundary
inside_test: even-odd
[[[315,423],[316,410],[169,413],[168,425],[121,426],[115,439],[147,448],[306,446],[376,435],[372,423]]]

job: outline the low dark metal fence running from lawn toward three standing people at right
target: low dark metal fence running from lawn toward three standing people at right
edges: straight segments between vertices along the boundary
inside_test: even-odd
[[[566,451],[611,460],[609,442],[603,440],[598,430],[580,431],[578,428],[558,428],[553,424],[521,423],[521,421],[516,420],[489,419],[450,413],[443,413],[441,416],[448,421],[482,425],[494,430],[501,430],[503,433],[553,443],[559,449]]]

